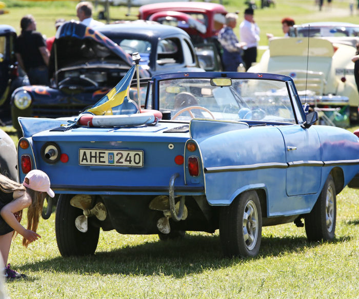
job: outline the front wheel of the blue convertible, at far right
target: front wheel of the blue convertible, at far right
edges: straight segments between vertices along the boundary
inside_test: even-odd
[[[308,241],[330,241],[334,239],[336,224],[336,193],[331,175],[309,214],[304,217]]]

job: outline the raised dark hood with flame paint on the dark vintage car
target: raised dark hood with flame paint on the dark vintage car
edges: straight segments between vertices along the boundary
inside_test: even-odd
[[[63,24],[56,32],[51,49],[49,75],[64,67],[87,65],[88,63],[108,63],[132,66],[131,55],[102,33],[79,22]],[[56,70],[57,68],[57,70]],[[149,77],[140,69],[141,77]]]

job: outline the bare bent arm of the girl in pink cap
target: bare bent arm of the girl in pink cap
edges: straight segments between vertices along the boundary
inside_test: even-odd
[[[31,204],[31,197],[26,192],[22,192],[21,196],[19,195],[19,193],[14,193],[15,199],[2,208],[0,215],[14,230],[21,234],[25,239],[33,242],[38,238],[41,238],[39,234],[22,226],[14,215],[15,212],[27,208]]]

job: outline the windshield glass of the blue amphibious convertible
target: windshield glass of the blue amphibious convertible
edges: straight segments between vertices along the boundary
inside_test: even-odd
[[[196,117],[295,123],[285,82],[226,80],[226,84],[231,82],[229,86],[215,86],[209,78],[160,81],[159,109],[170,111],[172,120]]]

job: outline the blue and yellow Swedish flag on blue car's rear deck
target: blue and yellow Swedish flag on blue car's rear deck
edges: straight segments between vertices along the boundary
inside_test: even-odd
[[[116,107],[118,108],[127,96],[135,70],[135,65],[133,65],[121,81],[119,81],[107,95],[105,95],[87,111],[93,113],[94,115],[113,115],[113,109]]]

